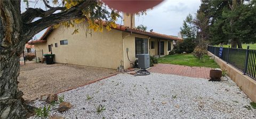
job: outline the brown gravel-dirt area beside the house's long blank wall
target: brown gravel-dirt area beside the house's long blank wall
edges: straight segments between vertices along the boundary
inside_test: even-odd
[[[36,99],[43,94],[58,93],[116,74],[116,70],[67,64],[21,65],[18,77],[23,98]]]

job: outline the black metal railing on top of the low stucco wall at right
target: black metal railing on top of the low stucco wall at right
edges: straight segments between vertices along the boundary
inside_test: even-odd
[[[207,50],[256,80],[256,50],[208,46]]]

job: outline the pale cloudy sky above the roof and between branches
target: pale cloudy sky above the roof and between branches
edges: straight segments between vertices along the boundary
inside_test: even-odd
[[[30,1],[29,7],[34,7],[35,1]],[[148,10],[147,15],[135,16],[135,26],[142,24],[147,26],[147,31],[153,29],[157,33],[177,36],[183,20],[189,13],[195,16],[200,4],[200,0],[165,0],[153,10]],[[35,7],[42,8],[43,3],[38,2]],[[22,2],[21,12],[24,11],[26,11],[26,4]],[[116,23],[121,24],[122,21],[118,20]],[[45,30],[39,32],[35,38],[39,39],[44,32]]]

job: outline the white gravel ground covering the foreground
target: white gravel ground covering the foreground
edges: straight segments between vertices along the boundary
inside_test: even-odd
[[[231,80],[117,74],[59,95],[73,107],[59,113],[54,106],[51,115],[66,118],[256,118],[256,109],[244,107],[251,100]],[[86,100],[86,95],[93,98]],[[37,107],[43,104],[34,102]],[[99,105],[106,110],[97,113]]]

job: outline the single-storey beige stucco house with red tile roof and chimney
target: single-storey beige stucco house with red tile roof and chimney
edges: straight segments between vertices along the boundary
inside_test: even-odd
[[[135,29],[134,15],[124,13],[124,25],[103,32],[87,29],[87,23],[79,25],[79,33],[73,34],[75,28],[48,28],[39,40],[30,41],[36,50],[52,52],[55,62],[93,67],[124,69],[132,67],[136,54],[150,56],[168,55],[173,49],[173,40],[181,38],[156,32]],[[88,32],[89,31],[89,32]],[[128,58],[129,56],[129,58]],[[130,62],[130,61],[131,62]]]

